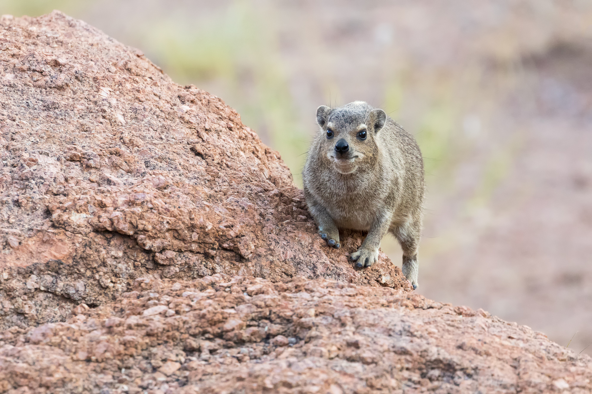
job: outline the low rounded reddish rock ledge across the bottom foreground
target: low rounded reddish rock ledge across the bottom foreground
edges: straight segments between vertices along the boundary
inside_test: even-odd
[[[481,309],[391,288],[225,274],[137,279],[116,302],[75,312],[0,332],[0,392],[592,389],[590,357]]]

